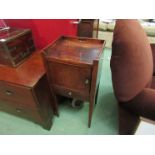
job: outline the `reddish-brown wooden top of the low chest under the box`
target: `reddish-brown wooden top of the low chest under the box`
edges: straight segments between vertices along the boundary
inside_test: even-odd
[[[35,51],[17,68],[0,65],[0,80],[33,87],[45,74],[41,51]]]

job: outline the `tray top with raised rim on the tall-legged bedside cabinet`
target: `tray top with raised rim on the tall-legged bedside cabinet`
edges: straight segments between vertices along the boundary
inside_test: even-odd
[[[62,36],[44,49],[44,55],[63,61],[92,64],[93,60],[100,58],[104,44],[104,40]]]

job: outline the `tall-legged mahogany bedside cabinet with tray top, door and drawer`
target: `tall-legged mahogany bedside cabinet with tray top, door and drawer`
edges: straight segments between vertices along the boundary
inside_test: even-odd
[[[103,40],[62,36],[42,53],[51,90],[62,96],[89,101],[89,127],[104,44]]]

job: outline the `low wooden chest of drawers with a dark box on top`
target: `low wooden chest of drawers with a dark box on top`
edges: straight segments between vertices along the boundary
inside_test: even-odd
[[[40,51],[18,68],[0,66],[0,110],[50,129],[53,102]]]

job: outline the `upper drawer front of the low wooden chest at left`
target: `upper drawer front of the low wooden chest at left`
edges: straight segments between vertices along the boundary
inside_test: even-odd
[[[0,99],[15,102],[24,107],[36,108],[31,89],[1,81]]]

